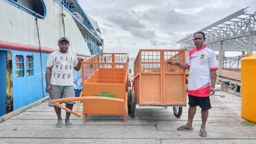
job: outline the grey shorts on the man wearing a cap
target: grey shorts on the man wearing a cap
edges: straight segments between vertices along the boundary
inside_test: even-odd
[[[56,106],[51,103],[51,100],[75,97],[74,86],[57,86],[51,85],[52,92],[49,93],[49,106]],[[62,102],[59,102],[61,104]],[[75,101],[64,102],[67,104],[75,104]]]

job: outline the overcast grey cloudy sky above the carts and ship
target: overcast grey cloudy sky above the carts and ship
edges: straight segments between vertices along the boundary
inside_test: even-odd
[[[247,6],[256,0],[79,0],[101,29],[107,53],[139,49],[180,49],[177,41]],[[232,53],[228,54],[232,55]]]

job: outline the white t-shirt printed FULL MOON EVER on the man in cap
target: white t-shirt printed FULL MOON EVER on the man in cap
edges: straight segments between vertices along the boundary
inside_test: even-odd
[[[72,86],[74,67],[77,65],[75,53],[55,51],[48,56],[46,67],[53,66],[50,84]]]

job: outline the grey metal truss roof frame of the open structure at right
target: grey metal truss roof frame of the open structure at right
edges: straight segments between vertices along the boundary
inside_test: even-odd
[[[247,7],[248,8],[248,7]],[[256,11],[246,14],[247,8],[241,9],[199,31],[205,33],[205,45],[214,51],[219,49],[219,41],[223,41],[223,51],[247,51],[247,35],[256,32]],[[194,47],[193,34],[181,39],[180,49]],[[254,35],[253,45],[256,46]]]

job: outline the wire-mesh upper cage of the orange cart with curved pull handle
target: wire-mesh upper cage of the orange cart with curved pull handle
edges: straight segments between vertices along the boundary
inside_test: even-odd
[[[83,83],[125,84],[128,55],[99,53],[82,62]]]

